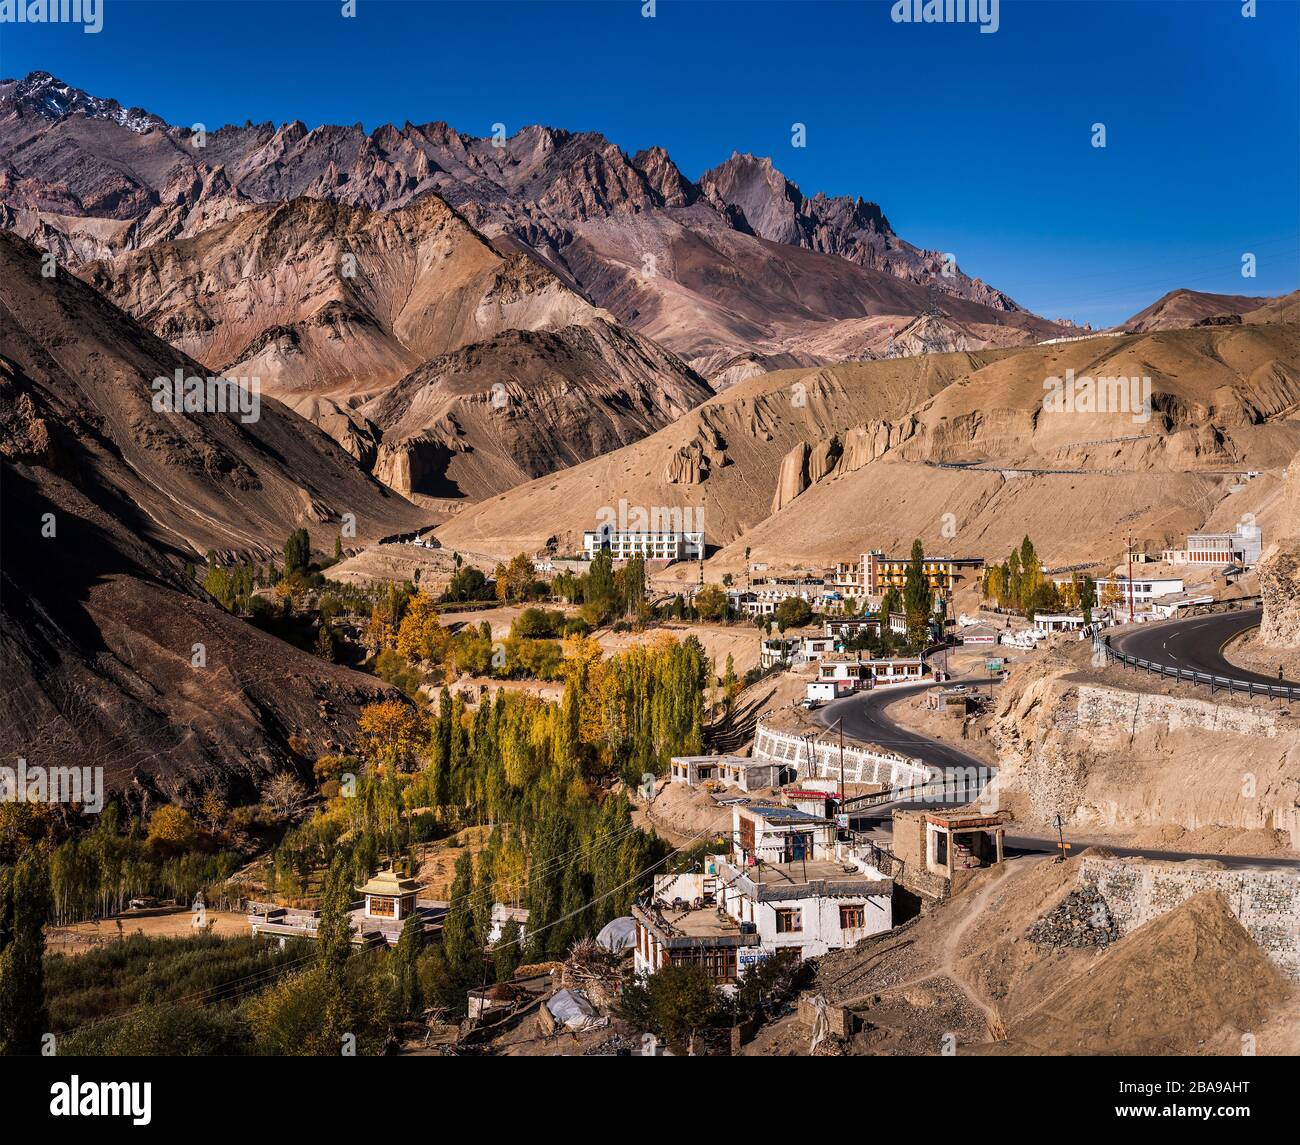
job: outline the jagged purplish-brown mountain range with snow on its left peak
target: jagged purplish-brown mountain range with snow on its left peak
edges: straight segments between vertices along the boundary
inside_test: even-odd
[[[542,126],[476,138],[438,122],[367,133],[295,121],[199,134],[48,73],[0,82],[0,224],[72,261],[192,235],[239,203],[390,211],[429,195],[719,382],[738,361],[749,373],[890,356],[902,352],[893,330],[927,313],[978,344],[1061,330],[900,239],[876,204],[805,198],[770,160],[733,155],[692,182],[662,148],[629,156],[602,135]]]

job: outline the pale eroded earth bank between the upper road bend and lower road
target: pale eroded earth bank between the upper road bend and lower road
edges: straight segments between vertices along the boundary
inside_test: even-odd
[[[1027,827],[1060,814],[1079,830],[1265,830],[1300,846],[1300,720],[1288,714],[1039,664],[1000,694],[989,738],[1002,798]]]

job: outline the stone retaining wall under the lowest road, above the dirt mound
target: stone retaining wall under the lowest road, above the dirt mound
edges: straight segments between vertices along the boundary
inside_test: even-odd
[[[1201,890],[1218,890],[1269,959],[1300,979],[1300,871],[1091,858],[1080,866],[1079,882],[1101,894],[1123,934]]]

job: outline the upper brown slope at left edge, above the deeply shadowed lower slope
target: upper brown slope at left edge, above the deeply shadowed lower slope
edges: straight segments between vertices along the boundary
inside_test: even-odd
[[[333,548],[429,522],[334,441],[261,396],[256,416],[157,412],[152,381],[204,373],[83,282],[43,278],[39,252],[0,233],[0,357],[9,448],[74,481],[155,543],[186,556],[273,554],[306,526]]]

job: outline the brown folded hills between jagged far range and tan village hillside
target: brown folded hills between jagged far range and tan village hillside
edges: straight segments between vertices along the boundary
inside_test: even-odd
[[[436,195],[246,207],[81,273],[209,368],[261,378],[403,494],[490,495],[711,392]]]

